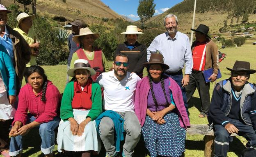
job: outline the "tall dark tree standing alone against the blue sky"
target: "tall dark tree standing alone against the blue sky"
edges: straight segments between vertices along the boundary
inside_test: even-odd
[[[139,0],[137,14],[142,23],[142,28],[145,28],[146,21],[149,20],[155,13],[154,0]]]

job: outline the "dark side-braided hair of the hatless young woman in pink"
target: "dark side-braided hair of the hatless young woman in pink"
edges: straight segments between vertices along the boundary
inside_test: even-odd
[[[48,84],[48,79],[47,76],[45,74],[45,71],[43,70],[43,68],[41,66],[38,65],[33,65],[27,68],[27,70],[25,71],[25,77],[26,79],[32,74],[32,73],[38,73],[39,75],[41,75],[43,77],[43,85],[42,85],[42,97],[41,100],[43,102],[46,101],[46,88],[47,88],[47,84]]]

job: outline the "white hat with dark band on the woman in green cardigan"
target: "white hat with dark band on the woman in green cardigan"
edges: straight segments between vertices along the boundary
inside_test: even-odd
[[[95,70],[89,66],[88,61],[84,59],[75,60],[74,67],[68,70],[68,75],[73,77],[77,69],[86,69],[90,71],[91,76],[96,74]]]

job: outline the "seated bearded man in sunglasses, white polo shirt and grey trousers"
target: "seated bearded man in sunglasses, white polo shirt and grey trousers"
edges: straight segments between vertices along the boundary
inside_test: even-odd
[[[97,82],[104,88],[104,110],[114,111],[124,120],[123,129],[126,137],[123,144],[123,157],[132,157],[141,131],[139,120],[134,112],[135,89],[141,79],[136,73],[128,72],[128,68],[128,55],[119,53],[114,57],[114,70],[102,73],[97,78]],[[101,140],[107,151],[106,157],[115,157],[119,152],[119,148],[116,147],[117,141],[115,141],[117,138],[114,138],[117,134],[114,124],[116,122],[112,118],[105,116],[98,126]]]

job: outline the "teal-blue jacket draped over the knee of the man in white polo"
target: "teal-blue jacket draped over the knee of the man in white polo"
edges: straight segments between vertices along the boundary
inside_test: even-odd
[[[113,122],[114,122],[114,135],[115,135],[115,142],[116,142],[116,150],[117,152],[120,152],[120,143],[121,141],[123,141],[124,137],[123,137],[123,122],[124,119],[120,117],[120,115],[112,110],[107,110],[103,113],[101,113],[101,115],[98,116],[98,118],[95,119],[96,121],[96,126],[97,129],[99,131],[99,124],[101,122],[101,119],[103,117],[110,117]]]

